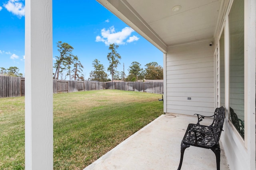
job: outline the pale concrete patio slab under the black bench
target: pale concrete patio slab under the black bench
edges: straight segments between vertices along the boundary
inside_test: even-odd
[[[180,162],[180,143],[188,123],[196,122],[195,116],[161,115],[84,170],[176,170]],[[201,124],[211,123],[212,119],[204,119]],[[222,145],[220,159],[220,169],[229,170]],[[187,148],[182,170],[206,169],[216,170],[212,150]]]

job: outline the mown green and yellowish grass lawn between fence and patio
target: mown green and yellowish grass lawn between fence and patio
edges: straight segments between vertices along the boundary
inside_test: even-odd
[[[160,94],[53,95],[54,169],[81,170],[163,113]],[[24,97],[0,98],[0,169],[24,169]]]

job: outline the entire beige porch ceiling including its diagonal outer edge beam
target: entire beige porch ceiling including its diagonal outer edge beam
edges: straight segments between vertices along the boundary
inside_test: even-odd
[[[97,0],[156,47],[213,40],[222,0]],[[181,6],[179,11],[172,11]]]

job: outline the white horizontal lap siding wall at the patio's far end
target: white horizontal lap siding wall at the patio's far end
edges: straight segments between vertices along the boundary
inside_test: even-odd
[[[209,43],[202,41],[168,48],[167,113],[213,114],[214,47]],[[188,97],[191,100],[187,100]]]

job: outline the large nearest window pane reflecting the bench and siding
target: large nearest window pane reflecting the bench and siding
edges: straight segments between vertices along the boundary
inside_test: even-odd
[[[244,139],[244,0],[234,0],[229,22],[229,119]]]

